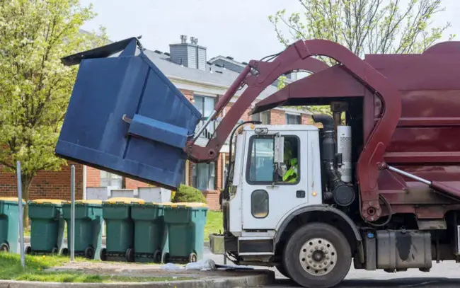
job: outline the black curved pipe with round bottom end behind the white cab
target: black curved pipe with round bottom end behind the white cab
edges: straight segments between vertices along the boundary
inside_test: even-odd
[[[337,145],[335,144],[335,121],[330,115],[313,115],[315,122],[323,124],[321,139],[321,162],[327,177],[328,190],[332,192],[335,203],[348,206],[355,200],[355,190],[342,180],[337,167]]]

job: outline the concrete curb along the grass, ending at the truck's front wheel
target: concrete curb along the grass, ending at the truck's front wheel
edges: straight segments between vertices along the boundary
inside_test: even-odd
[[[171,288],[226,288],[226,287],[257,287],[275,282],[275,272],[264,270],[258,275],[237,276],[215,279],[197,279],[171,282],[142,282],[142,283],[61,283],[61,282],[28,282],[28,281],[8,281],[0,280],[0,288],[44,288],[44,287],[60,287],[60,288],[75,288],[75,287],[120,287],[120,288],[156,288],[156,287],[171,287]]]

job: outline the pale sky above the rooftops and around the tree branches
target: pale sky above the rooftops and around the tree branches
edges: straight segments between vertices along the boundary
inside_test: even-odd
[[[451,22],[446,35],[457,34],[460,40],[460,0],[442,2],[446,11],[433,21]],[[208,59],[223,55],[238,62],[283,50],[268,16],[284,8],[289,15],[301,11],[298,0],[81,0],[83,6],[91,3],[98,16],[85,30],[103,25],[113,41],[142,35],[144,47],[162,52],[188,35],[207,47]]]

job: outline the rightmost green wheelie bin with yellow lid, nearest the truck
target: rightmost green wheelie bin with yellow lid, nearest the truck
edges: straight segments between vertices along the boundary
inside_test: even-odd
[[[207,210],[204,203],[174,203],[165,207],[169,247],[163,263],[202,259]]]

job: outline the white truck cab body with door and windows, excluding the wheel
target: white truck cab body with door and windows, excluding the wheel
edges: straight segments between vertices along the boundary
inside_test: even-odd
[[[277,139],[284,139],[277,145]],[[290,145],[290,146],[289,146]],[[277,155],[292,150],[297,180],[284,182],[277,173]],[[270,238],[294,209],[321,204],[318,128],[313,125],[251,125],[236,136],[229,231],[234,236]],[[284,157],[283,157],[284,158]],[[280,162],[288,162],[281,159]],[[284,160],[284,161],[283,161]],[[260,252],[253,252],[260,255]],[[246,255],[253,254],[251,251]],[[265,251],[263,253],[272,252]]]

